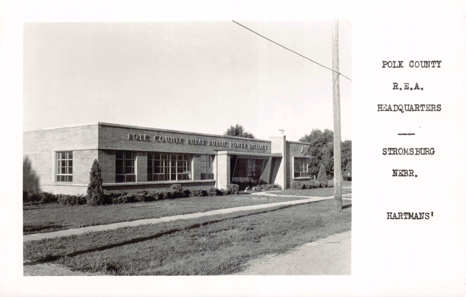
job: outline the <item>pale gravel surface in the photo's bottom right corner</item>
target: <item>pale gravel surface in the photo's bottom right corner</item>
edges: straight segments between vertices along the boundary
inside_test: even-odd
[[[351,231],[249,261],[237,275],[350,275]]]

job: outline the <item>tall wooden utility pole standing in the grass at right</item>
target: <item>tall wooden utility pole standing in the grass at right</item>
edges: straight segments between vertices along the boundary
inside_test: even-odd
[[[342,201],[342,136],[340,123],[340,67],[338,66],[338,20],[335,20],[332,34],[333,72],[333,184],[334,209],[341,212]]]

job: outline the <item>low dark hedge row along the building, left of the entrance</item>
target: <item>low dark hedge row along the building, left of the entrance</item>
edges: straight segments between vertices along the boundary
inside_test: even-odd
[[[148,202],[164,199],[176,199],[184,197],[199,196],[222,196],[236,195],[240,186],[237,184],[228,185],[227,189],[183,189],[181,184],[172,184],[170,190],[141,191],[137,193],[108,193],[104,195],[104,204]],[[23,190],[23,202],[59,202],[62,205],[89,204],[89,199],[85,195],[64,195],[52,194],[48,192],[29,192]]]

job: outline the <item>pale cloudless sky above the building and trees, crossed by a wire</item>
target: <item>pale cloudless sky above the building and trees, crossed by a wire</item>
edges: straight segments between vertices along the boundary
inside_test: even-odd
[[[332,66],[332,21],[246,27]],[[351,78],[351,26],[339,22],[340,72]],[[333,130],[332,71],[232,21],[24,24],[23,129],[110,122],[298,141]],[[342,140],[351,81],[340,76]]]

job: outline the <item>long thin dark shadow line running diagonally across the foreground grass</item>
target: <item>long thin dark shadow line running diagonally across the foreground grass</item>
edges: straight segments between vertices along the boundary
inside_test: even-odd
[[[313,202],[308,202],[308,203],[313,203]],[[307,204],[307,203],[305,203],[305,204]],[[78,255],[94,252],[94,251],[108,250],[108,249],[111,249],[111,248],[116,248],[116,247],[132,244],[132,243],[139,243],[139,242],[155,239],[155,238],[158,238],[158,237],[161,237],[161,236],[164,236],[164,235],[170,235],[170,234],[173,234],[173,233],[176,233],[176,232],[179,232],[179,231],[183,231],[183,230],[199,228],[201,226],[205,226],[205,225],[208,225],[208,224],[211,224],[211,223],[220,223],[220,222],[224,222],[224,221],[227,221],[227,220],[237,219],[237,218],[241,218],[241,217],[245,217],[245,216],[257,215],[257,214],[261,214],[261,213],[265,213],[265,212],[272,212],[272,211],[275,211],[275,210],[287,209],[287,208],[294,207],[294,206],[299,206],[299,205],[302,205],[302,204],[285,205],[285,206],[275,208],[275,209],[264,209],[262,211],[258,211],[258,212],[254,212],[254,213],[248,213],[248,214],[244,214],[244,215],[227,217],[227,218],[224,218],[224,219],[206,221],[206,222],[203,222],[203,223],[196,223],[196,224],[189,225],[189,226],[187,226],[185,228],[171,229],[171,230],[167,230],[167,231],[164,231],[164,232],[159,232],[159,233],[151,235],[151,236],[133,238],[133,239],[130,239],[130,240],[123,241],[121,243],[112,243],[112,244],[104,245],[102,247],[97,247],[97,248],[92,248],[92,249],[87,249],[87,250],[79,250],[79,251],[69,253],[67,255],[59,255],[59,256],[47,255],[44,258],[38,259],[38,260],[36,260],[34,262],[24,262],[23,265],[24,266],[35,265],[35,264],[38,264],[38,263],[46,263],[46,262],[56,261],[56,260],[58,260],[58,259],[60,259],[62,257],[73,257],[73,256],[78,256]]]

